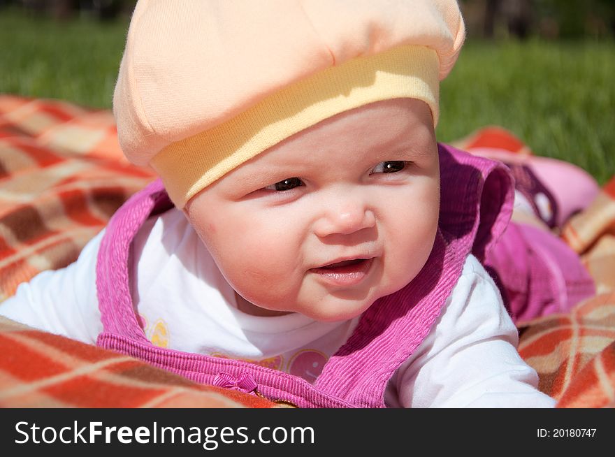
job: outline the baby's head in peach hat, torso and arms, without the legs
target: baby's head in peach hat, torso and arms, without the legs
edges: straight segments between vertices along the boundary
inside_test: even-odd
[[[481,264],[506,168],[439,145],[456,1],[139,1],[114,96],[161,180],[0,313],[299,407],[552,407]]]

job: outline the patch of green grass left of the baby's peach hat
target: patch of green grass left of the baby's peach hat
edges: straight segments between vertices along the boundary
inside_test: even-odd
[[[0,9],[0,92],[109,108],[127,27]]]

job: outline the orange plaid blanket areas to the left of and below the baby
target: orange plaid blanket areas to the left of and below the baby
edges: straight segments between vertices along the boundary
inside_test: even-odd
[[[129,164],[113,115],[0,95],[0,302],[20,282],[75,261],[154,178]],[[271,407],[0,318],[1,407]]]

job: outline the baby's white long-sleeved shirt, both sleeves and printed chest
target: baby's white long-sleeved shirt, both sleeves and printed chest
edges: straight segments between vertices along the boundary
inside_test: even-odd
[[[102,331],[96,256],[103,232],[67,268],[20,284],[0,314],[94,344]],[[133,303],[145,335],[180,351],[256,361],[313,382],[359,317],[323,323],[298,313],[256,317],[235,293],[182,212],[148,220],[133,242]],[[426,340],[389,382],[392,407],[553,407],[516,351],[518,333],[500,292],[468,256]]]

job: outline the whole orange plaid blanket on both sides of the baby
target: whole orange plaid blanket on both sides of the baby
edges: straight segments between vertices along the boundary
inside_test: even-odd
[[[499,128],[465,138],[528,152]],[[133,192],[154,179],[127,163],[108,110],[0,95],[0,301],[75,261]],[[560,407],[614,405],[615,180],[563,232],[600,295],[519,326],[521,356]],[[111,351],[0,319],[0,407],[273,407]]]

